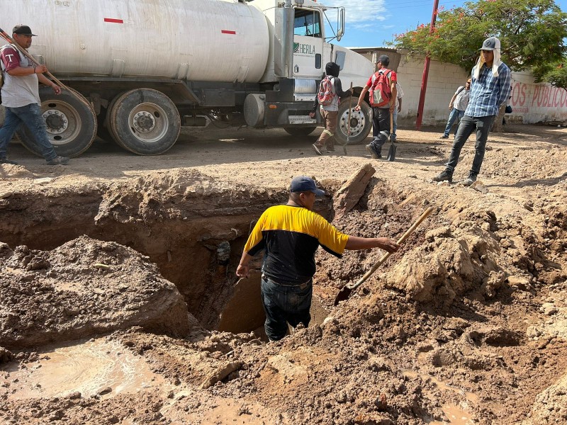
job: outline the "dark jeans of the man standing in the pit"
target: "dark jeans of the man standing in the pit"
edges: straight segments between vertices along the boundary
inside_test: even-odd
[[[313,296],[313,280],[302,285],[284,286],[262,275],[260,288],[262,305],[266,312],[264,329],[271,341],[278,341],[286,336],[288,323],[292,327],[300,323],[308,327],[311,320],[309,309]]]

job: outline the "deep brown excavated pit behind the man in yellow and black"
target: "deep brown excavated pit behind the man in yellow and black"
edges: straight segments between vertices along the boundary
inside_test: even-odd
[[[86,235],[128,246],[176,285],[201,326],[262,334],[260,275],[238,280],[235,265],[257,217],[269,206],[285,203],[287,196],[285,188],[224,187],[191,171],[91,186],[80,195],[63,191],[30,198],[19,193],[10,196],[4,209],[10,224],[2,242],[49,251]],[[315,210],[332,220],[332,198],[318,200]],[[255,259],[254,267],[260,261]],[[318,296],[312,316],[314,324],[327,316]]]

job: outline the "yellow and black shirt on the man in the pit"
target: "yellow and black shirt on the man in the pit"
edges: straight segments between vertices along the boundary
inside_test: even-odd
[[[264,249],[263,273],[278,283],[299,285],[313,278],[319,246],[340,258],[348,239],[316,212],[276,205],[260,216],[244,250],[254,256]]]

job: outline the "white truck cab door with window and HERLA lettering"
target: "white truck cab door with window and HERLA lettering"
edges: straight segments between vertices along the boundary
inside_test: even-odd
[[[323,25],[321,13],[296,8],[293,22],[293,77],[320,79],[322,64]]]

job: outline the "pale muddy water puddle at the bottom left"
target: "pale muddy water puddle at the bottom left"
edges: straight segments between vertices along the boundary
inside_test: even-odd
[[[26,365],[5,365],[2,370],[8,373],[0,375],[0,390],[10,399],[30,399],[72,392],[80,392],[82,397],[101,392],[103,397],[113,397],[120,392],[152,387],[167,391],[170,387],[141,357],[107,339],[50,346],[38,352],[38,358]]]

